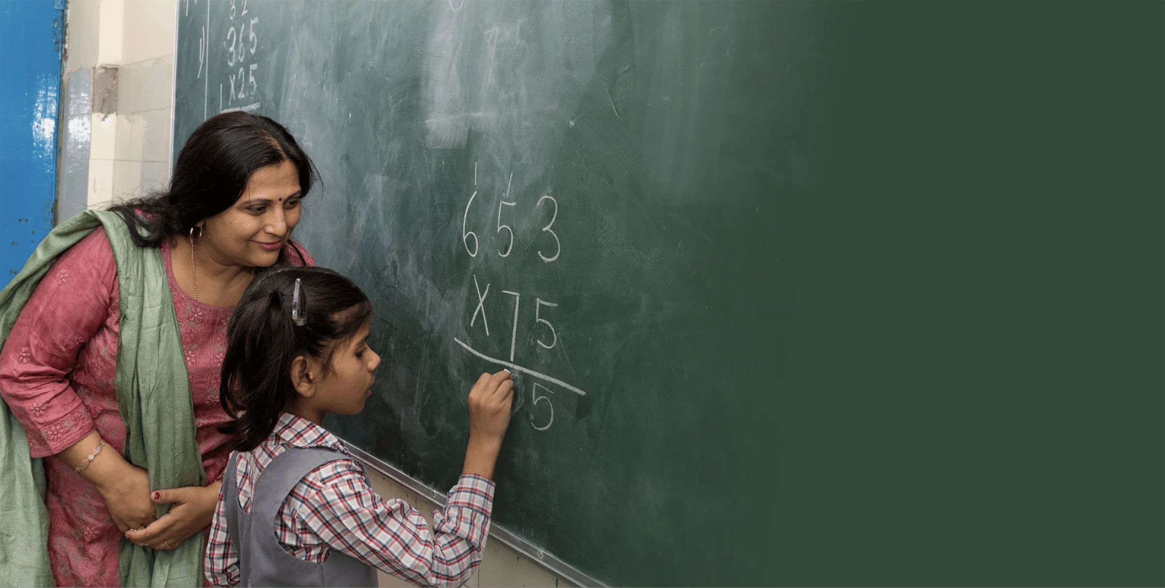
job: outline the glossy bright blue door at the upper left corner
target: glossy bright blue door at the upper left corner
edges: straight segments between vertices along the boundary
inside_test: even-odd
[[[64,0],[0,0],[0,288],[52,228]]]

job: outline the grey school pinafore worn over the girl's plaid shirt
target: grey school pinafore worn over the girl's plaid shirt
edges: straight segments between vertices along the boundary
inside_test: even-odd
[[[275,517],[291,488],[311,470],[344,459],[326,448],[285,449],[263,469],[250,494],[250,512],[239,508],[235,466],[231,455],[223,476],[227,532],[239,552],[240,586],[246,588],[376,588],[376,568],[331,550],[323,564],[304,561],[283,550],[275,538]]]

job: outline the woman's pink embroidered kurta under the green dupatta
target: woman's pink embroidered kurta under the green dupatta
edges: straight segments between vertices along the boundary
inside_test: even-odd
[[[302,248],[298,248],[303,252]],[[299,265],[294,246],[285,256]],[[315,264],[306,252],[303,257]],[[162,258],[190,374],[196,440],[206,480],[226,467],[227,420],[219,404],[226,324],[233,307],[202,304],[174,279],[170,247]],[[118,531],[105,501],[56,454],[97,430],[119,453],[126,426],[118,412],[118,271],[105,231],[65,252],[45,274],[0,353],[0,395],[24,426],[34,458],[44,459],[49,559],[58,587],[120,586]]]

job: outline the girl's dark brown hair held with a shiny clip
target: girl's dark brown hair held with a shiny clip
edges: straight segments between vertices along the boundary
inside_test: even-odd
[[[297,278],[302,326],[291,317]],[[320,360],[327,375],[332,352],[350,341],[370,316],[368,297],[330,269],[280,269],[256,278],[226,330],[219,402],[233,420],[219,431],[233,437],[233,448],[259,447],[275,430],[280,413],[298,397],[291,383],[291,362],[297,356]]]

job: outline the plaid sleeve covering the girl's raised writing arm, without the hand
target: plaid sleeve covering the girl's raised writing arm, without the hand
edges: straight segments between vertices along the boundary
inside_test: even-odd
[[[295,526],[382,572],[417,586],[457,587],[481,562],[493,500],[492,481],[465,474],[430,529],[404,501],[374,493],[356,462],[338,460],[305,476],[285,511],[298,519]]]

